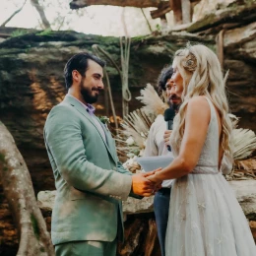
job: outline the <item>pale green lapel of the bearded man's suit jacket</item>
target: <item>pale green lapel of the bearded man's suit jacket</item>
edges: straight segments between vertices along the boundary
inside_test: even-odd
[[[110,154],[110,156],[112,157],[112,159],[114,160],[114,162],[116,162],[113,154],[112,154],[112,151],[109,149],[108,145],[107,145],[107,141],[109,142],[109,136],[108,136],[108,133],[105,131],[105,127],[103,127],[103,124],[99,121],[100,125],[102,126],[102,129],[103,129],[103,132],[105,133],[105,139],[106,141],[103,139],[100,131],[98,130],[98,128],[96,127],[96,123],[94,122],[94,120],[92,119],[92,117],[90,116],[90,114],[88,113],[88,111],[86,110],[86,108],[82,105],[82,103],[80,103],[78,101],[78,99],[76,98],[73,98],[73,96],[69,96],[69,95],[66,95],[63,102],[65,103],[69,103],[71,104],[72,106],[74,106],[80,113],[82,113],[96,128],[101,140],[103,141],[108,153]]]

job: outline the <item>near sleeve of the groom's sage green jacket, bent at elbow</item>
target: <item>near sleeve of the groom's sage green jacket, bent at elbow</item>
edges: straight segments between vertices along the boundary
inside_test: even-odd
[[[60,175],[71,186],[127,199],[131,190],[131,176],[100,168],[87,160],[80,119],[73,109],[58,105],[51,110],[44,127],[44,139]]]

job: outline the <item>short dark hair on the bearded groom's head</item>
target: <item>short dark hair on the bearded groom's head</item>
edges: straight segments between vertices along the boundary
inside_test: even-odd
[[[82,52],[71,57],[64,68],[64,78],[66,82],[66,88],[69,89],[72,86],[72,71],[77,70],[82,77],[85,77],[85,73],[88,70],[88,60],[95,61],[102,68],[105,66],[105,62],[96,55],[89,52]]]

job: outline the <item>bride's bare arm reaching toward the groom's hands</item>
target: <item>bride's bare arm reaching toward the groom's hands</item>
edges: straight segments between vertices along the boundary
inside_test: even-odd
[[[160,182],[164,179],[179,178],[192,171],[203,149],[210,118],[211,109],[205,97],[196,96],[190,99],[185,113],[185,130],[178,157],[148,178]]]

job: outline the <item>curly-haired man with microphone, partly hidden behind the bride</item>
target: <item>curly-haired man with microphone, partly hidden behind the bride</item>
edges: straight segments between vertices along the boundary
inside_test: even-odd
[[[171,67],[162,69],[158,79],[158,92],[162,96],[163,100],[167,102],[169,106],[175,110],[175,112],[177,112],[178,106],[181,103],[181,98],[175,94],[174,85],[171,81],[172,73],[173,71]],[[155,122],[151,126],[146,142],[144,157],[168,155],[172,157],[171,151],[167,150],[167,145],[165,145],[164,142],[164,138],[167,138],[166,141],[168,141],[170,133],[170,130],[166,130],[166,122],[164,121],[163,115],[158,115]],[[164,241],[168,222],[171,182],[172,180],[164,180],[161,184],[162,188],[156,193],[154,199],[154,212],[160,240],[161,256],[165,256]]]

